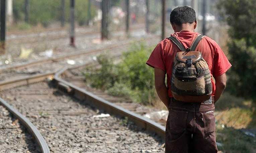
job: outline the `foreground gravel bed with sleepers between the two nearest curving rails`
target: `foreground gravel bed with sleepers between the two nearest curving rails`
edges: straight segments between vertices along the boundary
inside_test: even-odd
[[[123,118],[92,109],[47,82],[0,93],[41,132],[55,153],[164,152],[163,140]]]

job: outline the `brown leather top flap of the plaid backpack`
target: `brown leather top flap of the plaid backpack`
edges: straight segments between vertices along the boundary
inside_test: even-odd
[[[191,61],[191,63],[194,64],[202,59],[202,54],[197,51],[178,52],[176,59],[181,63],[190,64]]]

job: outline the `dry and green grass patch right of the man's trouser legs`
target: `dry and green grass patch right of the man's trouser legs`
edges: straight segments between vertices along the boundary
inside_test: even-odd
[[[255,153],[256,137],[245,135],[241,129],[256,131],[255,103],[223,94],[216,103],[217,142],[225,153]]]

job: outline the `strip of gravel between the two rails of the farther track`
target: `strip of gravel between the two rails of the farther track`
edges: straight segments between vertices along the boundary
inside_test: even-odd
[[[126,43],[125,41],[120,41],[118,43],[112,44],[117,45],[121,43]],[[148,44],[156,43],[156,40],[150,39],[147,41]],[[110,47],[111,44],[100,46],[98,45],[97,48],[103,49],[104,47]],[[19,79],[23,77],[28,77],[35,74],[43,74],[43,73],[49,73],[54,72],[57,70],[60,70],[61,68],[67,67],[67,66],[79,66],[83,64],[90,63],[95,60],[95,57],[100,54],[107,54],[109,56],[118,56],[121,55],[123,52],[127,51],[130,47],[130,44],[123,45],[121,47],[115,47],[112,49],[105,49],[104,51],[94,52],[90,54],[84,54],[80,56],[74,56],[66,59],[59,59],[55,61],[49,61],[45,63],[38,63],[26,66],[24,68],[19,69],[5,69],[1,71],[0,76],[0,82],[7,81],[7,80],[14,80]],[[85,52],[85,51],[84,51]],[[67,54],[67,53],[66,53]],[[62,55],[64,56],[64,55]]]

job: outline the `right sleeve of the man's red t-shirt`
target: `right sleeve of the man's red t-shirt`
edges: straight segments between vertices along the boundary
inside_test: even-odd
[[[215,45],[215,55],[214,55],[214,69],[213,69],[213,76],[217,77],[220,76],[228,71],[231,67],[231,64],[227,58],[227,56],[222,51],[221,47],[216,43]]]

